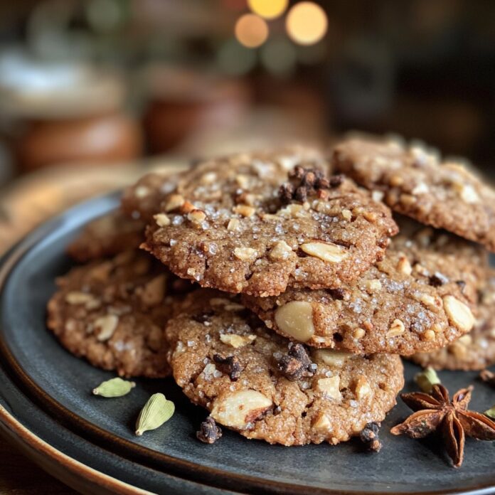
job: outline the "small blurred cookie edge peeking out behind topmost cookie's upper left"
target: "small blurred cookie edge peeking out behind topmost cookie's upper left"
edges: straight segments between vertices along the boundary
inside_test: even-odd
[[[160,203],[174,191],[181,174],[152,172],[122,192],[121,208],[129,217],[150,221],[159,211]]]

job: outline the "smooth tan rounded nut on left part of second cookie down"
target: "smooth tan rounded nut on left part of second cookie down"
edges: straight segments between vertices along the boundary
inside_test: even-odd
[[[306,342],[314,334],[313,307],[305,301],[291,301],[275,312],[277,326],[294,339]]]

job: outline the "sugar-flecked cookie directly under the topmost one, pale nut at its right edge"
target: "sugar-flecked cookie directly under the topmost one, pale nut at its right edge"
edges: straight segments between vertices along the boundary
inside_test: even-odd
[[[447,244],[454,254],[445,254]],[[352,284],[243,302],[269,328],[309,346],[403,356],[432,351],[474,325],[479,250],[432,229],[398,235],[385,258]]]

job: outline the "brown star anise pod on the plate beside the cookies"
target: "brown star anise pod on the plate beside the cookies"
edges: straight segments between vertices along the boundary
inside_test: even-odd
[[[423,438],[440,432],[447,454],[454,467],[459,467],[464,458],[464,440],[495,440],[495,422],[489,417],[467,409],[473,386],[462,388],[452,400],[443,385],[433,385],[432,392],[403,393],[400,398],[415,411],[407,420],[390,430],[393,435],[408,435]]]

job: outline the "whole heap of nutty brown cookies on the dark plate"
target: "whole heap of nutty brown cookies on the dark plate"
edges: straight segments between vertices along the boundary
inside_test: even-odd
[[[446,346],[488,332],[478,322],[476,336],[465,335],[479,309],[490,320],[486,252],[394,220],[387,206],[449,228],[457,223],[440,225],[442,208],[428,210],[434,182],[437,201],[452,191],[485,205],[493,195],[457,169],[469,183],[450,186],[454,175],[425,156],[351,140],[332,159],[346,176],[330,175],[329,162],[308,149],[145,176],[124,191],[119,211],[70,246],[85,265],[58,281],[48,326],[95,366],[172,373],[211,415],[203,440],[218,431],[213,420],[282,445],[348,440],[395,405],[398,354],[440,362]],[[437,174],[450,182],[428,182]],[[424,199],[413,207],[423,198],[415,194]],[[489,230],[479,228],[476,240],[488,243]]]

